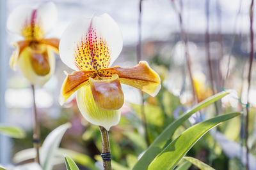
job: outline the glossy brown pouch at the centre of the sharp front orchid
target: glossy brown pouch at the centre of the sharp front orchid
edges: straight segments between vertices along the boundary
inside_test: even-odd
[[[93,99],[104,110],[118,110],[124,104],[124,93],[117,74],[110,79],[93,80],[90,78]]]

